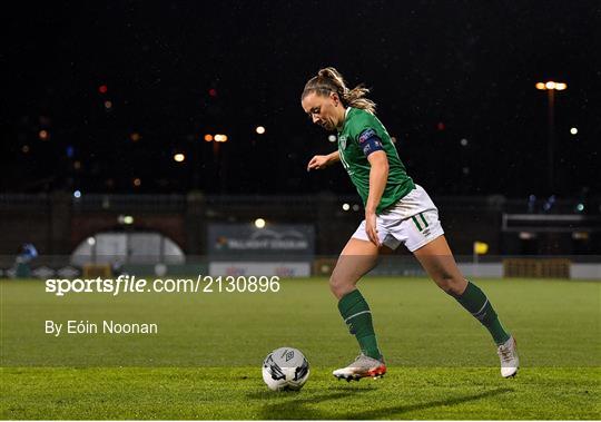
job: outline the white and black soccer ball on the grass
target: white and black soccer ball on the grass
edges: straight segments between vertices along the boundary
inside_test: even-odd
[[[300,390],[309,375],[308,362],[299,350],[279,347],[263,361],[263,381],[270,390]]]

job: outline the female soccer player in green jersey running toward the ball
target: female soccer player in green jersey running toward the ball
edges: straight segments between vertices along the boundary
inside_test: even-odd
[[[382,248],[395,249],[400,244],[414,254],[439,287],[489,330],[501,359],[501,375],[514,376],[519,359],[513,336],[499,322],[486,295],[459,271],[436,206],[407,176],[388,133],[375,116],[375,104],[365,98],[367,92],[362,86],[348,89],[341,73],[328,67],[309,79],[300,97],[314,124],[338,134],[338,150],[314,156],[307,171],[342,161],[365,206],[365,219],[344,247],[329,278],[329,288],[361,354],[348,366],[334,371],[334,376],[358,381],[386,373],[372,312],[356,284],[374,267]]]

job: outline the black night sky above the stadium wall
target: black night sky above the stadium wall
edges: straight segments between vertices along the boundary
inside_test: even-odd
[[[373,89],[431,194],[601,190],[599,1],[49,1],[3,14],[3,193],[353,194],[342,166],[306,173],[335,148],[299,106],[325,66]],[[549,192],[534,85],[551,79],[568,89]]]

